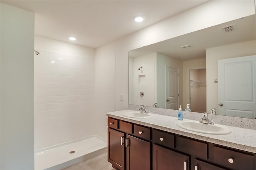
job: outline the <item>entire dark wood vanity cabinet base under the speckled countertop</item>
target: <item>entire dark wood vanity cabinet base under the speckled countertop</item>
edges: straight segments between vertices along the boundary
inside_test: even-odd
[[[108,161],[117,170],[256,170],[256,154],[108,118]]]

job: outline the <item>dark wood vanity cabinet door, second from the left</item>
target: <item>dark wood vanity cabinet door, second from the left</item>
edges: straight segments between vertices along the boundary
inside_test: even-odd
[[[150,170],[150,142],[126,135],[126,170]]]

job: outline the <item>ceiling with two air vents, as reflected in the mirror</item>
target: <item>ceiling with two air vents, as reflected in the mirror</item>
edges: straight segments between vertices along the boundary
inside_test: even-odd
[[[242,19],[226,22],[220,25],[205,28],[196,32],[171,38],[129,51],[130,57],[137,57],[150,53],[162,53],[164,55],[180,59],[190,60],[206,57],[206,49],[228,45],[238,42],[246,42],[256,39],[255,15]],[[222,28],[234,25],[234,31],[225,32]],[[183,45],[190,45],[186,49]]]

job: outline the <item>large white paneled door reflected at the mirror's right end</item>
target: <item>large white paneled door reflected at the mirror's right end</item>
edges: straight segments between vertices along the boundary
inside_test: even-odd
[[[219,114],[255,119],[256,55],[218,60]]]

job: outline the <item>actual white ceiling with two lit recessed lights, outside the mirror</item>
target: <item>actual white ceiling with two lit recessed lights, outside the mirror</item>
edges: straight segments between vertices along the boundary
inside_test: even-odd
[[[1,0],[35,12],[35,35],[100,47],[207,0]],[[134,22],[134,16],[145,20]],[[72,42],[68,37],[76,37]]]

